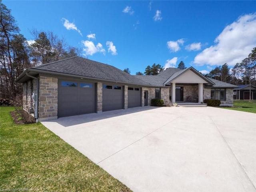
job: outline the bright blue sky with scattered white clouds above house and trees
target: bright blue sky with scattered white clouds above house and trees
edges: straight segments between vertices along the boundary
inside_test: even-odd
[[[132,74],[181,60],[207,72],[225,62],[233,66],[256,46],[256,1],[3,3],[27,40],[33,40],[32,28],[51,30],[89,59],[128,67]]]

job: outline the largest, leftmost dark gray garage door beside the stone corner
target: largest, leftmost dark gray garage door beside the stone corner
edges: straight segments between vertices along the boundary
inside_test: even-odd
[[[96,84],[58,80],[58,117],[94,113]]]

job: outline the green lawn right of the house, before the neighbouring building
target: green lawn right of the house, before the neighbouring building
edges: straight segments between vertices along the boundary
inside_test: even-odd
[[[236,100],[234,101],[234,106],[240,106],[242,108],[231,108],[231,107],[223,107],[225,109],[231,109],[236,111],[244,111],[256,113],[256,101],[249,102],[247,100]]]

